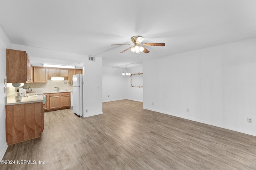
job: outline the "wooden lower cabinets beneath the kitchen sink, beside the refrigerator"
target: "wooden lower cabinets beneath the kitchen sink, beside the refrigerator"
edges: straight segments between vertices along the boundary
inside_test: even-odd
[[[70,92],[44,94],[46,104],[44,111],[53,111],[70,108]]]

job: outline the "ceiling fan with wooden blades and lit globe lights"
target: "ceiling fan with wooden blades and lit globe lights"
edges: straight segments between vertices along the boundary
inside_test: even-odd
[[[124,51],[121,51],[120,53],[124,53],[125,51],[131,49],[131,51],[134,53],[140,53],[140,52],[144,52],[144,53],[149,53],[149,51],[145,48],[142,47],[143,46],[165,46],[165,43],[143,43],[141,44],[141,42],[145,39],[144,37],[140,36],[140,35],[136,35],[133,36],[132,38],[132,42],[134,44],[112,44],[112,45],[133,45],[132,47],[129,47],[128,49],[125,49]]]

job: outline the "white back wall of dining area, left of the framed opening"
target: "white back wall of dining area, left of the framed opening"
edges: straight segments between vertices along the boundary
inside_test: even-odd
[[[123,71],[122,68],[102,67],[102,102],[125,99],[127,76],[122,75]]]

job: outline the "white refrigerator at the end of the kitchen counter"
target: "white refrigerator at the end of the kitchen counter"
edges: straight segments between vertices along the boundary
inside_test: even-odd
[[[83,84],[82,74],[73,75],[73,111],[78,116],[83,115]]]

